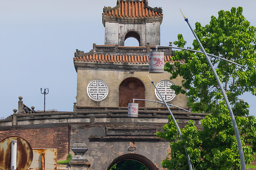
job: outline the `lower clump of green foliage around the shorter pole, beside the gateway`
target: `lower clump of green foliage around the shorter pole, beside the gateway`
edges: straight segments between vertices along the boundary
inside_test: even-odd
[[[164,132],[157,136],[171,141],[171,158],[163,160],[168,169],[189,169],[184,146],[187,147],[194,169],[241,169],[237,141],[230,116],[207,115],[199,131],[193,121],[181,129],[182,141],[174,122],[164,125]],[[256,120],[251,117],[236,117],[241,135],[245,163],[250,164],[256,151]],[[178,139],[178,141],[175,139]],[[181,166],[180,166],[181,165]]]

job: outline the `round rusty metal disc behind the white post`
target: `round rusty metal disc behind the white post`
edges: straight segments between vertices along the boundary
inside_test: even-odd
[[[21,137],[8,137],[0,142],[0,169],[11,169],[11,142],[17,140],[17,169],[26,170],[33,160],[33,150]]]

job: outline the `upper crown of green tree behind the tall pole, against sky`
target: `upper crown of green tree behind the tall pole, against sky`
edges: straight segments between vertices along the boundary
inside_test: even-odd
[[[242,7],[233,7],[231,11],[226,12],[219,11],[218,18],[212,16],[210,24],[205,27],[197,22],[195,29],[207,53],[243,65],[241,68],[218,58],[211,58],[235,115],[249,114],[249,105],[239,99],[239,96],[247,91],[256,95],[256,28],[250,25],[242,12]],[[186,41],[182,35],[178,35],[178,41],[173,44],[184,47]],[[199,50],[196,40],[193,46],[193,49]],[[175,90],[175,94],[187,93],[188,104],[193,112],[228,112],[218,83],[203,54],[184,50],[174,51],[173,60],[183,60],[185,64],[175,62],[173,66],[166,63],[165,70],[172,73],[171,80],[179,75],[184,80],[182,86],[173,85],[171,88]]]

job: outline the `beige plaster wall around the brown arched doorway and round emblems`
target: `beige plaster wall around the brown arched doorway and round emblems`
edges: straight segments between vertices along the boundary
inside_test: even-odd
[[[118,107],[119,105],[119,85],[127,78],[137,78],[145,85],[145,99],[156,100],[155,87],[151,83],[149,77],[157,84],[161,80],[170,80],[171,74],[168,72],[160,74],[148,73],[148,71],[134,71],[132,74],[126,70],[105,70],[105,69],[87,69],[86,67],[78,67],[77,69],[77,106],[99,106],[99,107]],[[102,101],[94,101],[87,95],[88,84],[95,79],[105,81],[109,87],[108,96]],[[182,79],[178,77],[173,83],[181,86]],[[176,95],[175,98],[168,102],[172,105],[187,108],[186,95]],[[165,107],[162,104],[146,102],[145,107]]]

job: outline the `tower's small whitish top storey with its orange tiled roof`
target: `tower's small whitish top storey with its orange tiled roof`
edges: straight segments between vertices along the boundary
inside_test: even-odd
[[[137,39],[139,46],[160,45],[162,20],[162,8],[152,8],[145,0],[117,1],[115,7],[103,8],[105,45],[124,46],[130,37]]]

